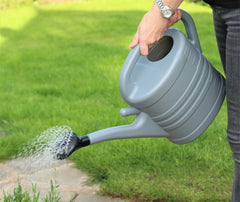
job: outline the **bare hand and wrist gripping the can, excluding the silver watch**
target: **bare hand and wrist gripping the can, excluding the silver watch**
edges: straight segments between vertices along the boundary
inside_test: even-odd
[[[162,0],[168,7],[176,10],[183,0]],[[142,55],[148,54],[148,49],[151,48],[156,41],[163,37],[164,32],[169,26],[177,22],[181,18],[180,11],[175,12],[169,20],[161,16],[160,10],[154,1],[154,5],[142,18],[133,41],[129,48],[140,44]]]

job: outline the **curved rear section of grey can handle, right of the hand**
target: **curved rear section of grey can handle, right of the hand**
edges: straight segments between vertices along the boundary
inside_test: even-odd
[[[189,41],[195,48],[202,52],[200,42],[198,39],[197,29],[191,15],[189,15],[185,10],[182,9],[179,10],[181,11],[182,15],[181,20],[185,26]]]

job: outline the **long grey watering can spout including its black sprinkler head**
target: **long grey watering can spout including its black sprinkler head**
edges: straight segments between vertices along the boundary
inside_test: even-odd
[[[146,113],[139,112],[134,107],[124,108],[120,111],[120,114],[122,116],[134,114],[137,116],[135,121],[130,125],[107,128],[82,137],[78,137],[75,133],[64,135],[57,140],[54,145],[54,158],[62,160],[82,147],[108,140],[169,136],[169,134],[156,124]]]

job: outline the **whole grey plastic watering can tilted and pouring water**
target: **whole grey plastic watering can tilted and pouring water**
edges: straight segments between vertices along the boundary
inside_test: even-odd
[[[135,121],[80,138],[67,134],[56,142],[58,159],[113,139],[166,137],[185,144],[208,128],[223,103],[225,80],[202,54],[193,19],[187,12],[181,13],[187,37],[170,28],[148,56],[140,55],[138,45],[122,67],[119,87],[130,107],[121,109],[120,114],[136,115]]]

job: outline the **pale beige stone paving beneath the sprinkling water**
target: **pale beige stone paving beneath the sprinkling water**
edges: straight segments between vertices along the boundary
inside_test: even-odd
[[[123,202],[121,199],[97,195],[98,185],[88,185],[88,176],[74,168],[74,163],[70,161],[59,161],[55,168],[51,166],[24,170],[27,162],[28,159],[22,158],[0,164],[0,201],[4,198],[2,190],[12,194],[19,181],[23,190],[30,190],[29,193],[32,184],[36,184],[40,198],[43,198],[50,191],[50,180],[54,182],[56,179],[63,202]]]

